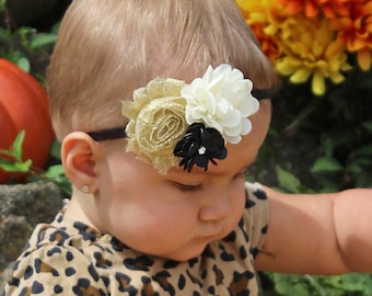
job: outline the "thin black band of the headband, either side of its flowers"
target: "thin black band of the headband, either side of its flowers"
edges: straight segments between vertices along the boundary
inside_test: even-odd
[[[275,90],[272,88],[253,89],[251,93],[254,98],[256,98],[259,101],[259,100],[271,98],[275,93]],[[126,126],[118,126],[118,127],[88,132],[86,134],[96,141],[114,140],[114,139],[119,139],[119,138],[126,138],[127,134],[125,129],[126,129]]]

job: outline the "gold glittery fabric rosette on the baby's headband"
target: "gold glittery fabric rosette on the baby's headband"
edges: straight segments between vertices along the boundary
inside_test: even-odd
[[[179,158],[173,150],[188,127],[186,100],[181,96],[185,86],[176,79],[154,79],[133,92],[133,101],[123,102],[123,114],[129,119],[127,151],[152,163],[163,174],[178,164]]]

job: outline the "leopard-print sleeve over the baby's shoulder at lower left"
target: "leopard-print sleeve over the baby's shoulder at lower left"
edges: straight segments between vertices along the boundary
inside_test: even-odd
[[[43,246],[18,259],[3,295],[107,294],[97,270],[82,253]]]

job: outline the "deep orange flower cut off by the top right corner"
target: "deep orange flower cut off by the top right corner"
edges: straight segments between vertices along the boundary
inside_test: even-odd
[[[372,2],[357,0],[350,7],[350,15],[333,19],[338,39],[348,50],[357,53],[361,69],[369,70],[372,65]]]

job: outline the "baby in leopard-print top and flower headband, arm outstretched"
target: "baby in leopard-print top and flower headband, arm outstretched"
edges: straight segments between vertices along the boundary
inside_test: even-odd
[[[372,272],[372,190],[245,182],[276,77],[233,0],[74,0],[47,76],[70,202],[4,295],[257,295]]]

